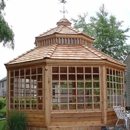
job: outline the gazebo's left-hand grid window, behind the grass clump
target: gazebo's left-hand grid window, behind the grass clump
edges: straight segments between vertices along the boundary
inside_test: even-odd
[[[9,71],[9,109],[44,110],[43,67]]]

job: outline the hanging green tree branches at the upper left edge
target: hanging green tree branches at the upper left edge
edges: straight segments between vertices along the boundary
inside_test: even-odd
[[[0,0],[0,43],[14,49],[14,33],[4,19],[5,6],[4,0]]]

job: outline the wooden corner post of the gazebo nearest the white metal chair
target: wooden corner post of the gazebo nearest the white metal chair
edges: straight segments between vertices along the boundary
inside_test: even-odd
[[[106,85],[106,68],[105,66],[101,69],[102,77],[102,121],[103,124],[107,124],[107,85]]]

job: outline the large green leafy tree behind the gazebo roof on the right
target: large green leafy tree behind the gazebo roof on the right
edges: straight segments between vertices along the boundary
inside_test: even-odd
[[[126,33],[130,28],[122,29],[123,21],[117,21],[116,17],[109,15],[104,5],[96,12],[96,17],[90,17],[86,23],[87,14],[78,15],[78,19],[72,19],[75,28],[83,28],[83,32],[95,38],[94,47],[120,61],[125,60],[130,52],[130,46],[126,44],[129,36]]]

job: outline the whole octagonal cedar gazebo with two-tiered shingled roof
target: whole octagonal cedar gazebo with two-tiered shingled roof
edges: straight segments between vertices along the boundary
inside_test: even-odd
[[[124,106],[125,65],[93,47],[94,39],[63,18],[36,37],[36,47],[5,64],[7,114],[27,113],[29,126],[101,129]]]

